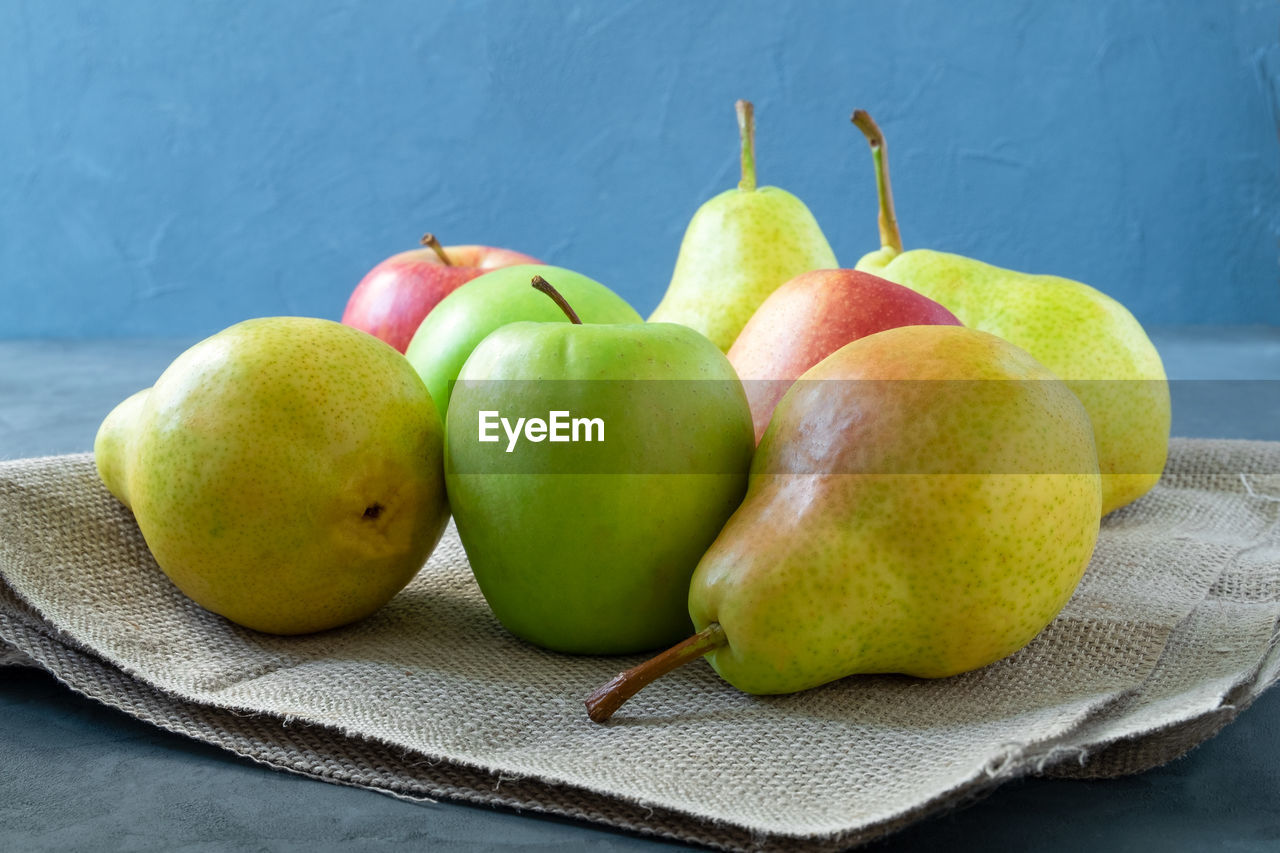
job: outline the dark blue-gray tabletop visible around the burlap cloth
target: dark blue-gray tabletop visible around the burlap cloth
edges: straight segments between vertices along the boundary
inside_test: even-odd
[[[1280,329],[1155,329],[1174,434],[1280,439]],[[0,341],[0,459],[87,451],[191,341]],[[1116,780],[1024,779],[867,849],[1280,849],[1280,690]],[[586,824],[411,803],[269,770],[0,669],[0,850],[671,850]]]

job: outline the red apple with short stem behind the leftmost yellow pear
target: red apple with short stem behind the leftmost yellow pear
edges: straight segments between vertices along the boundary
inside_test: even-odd
[[[401,352],[431,309],[477,275],[499,266],[541,264],[536,257],[490,246],[440,246],[422,237],[425,248],[392,255],[360,280],[342,321],[381,338]]]

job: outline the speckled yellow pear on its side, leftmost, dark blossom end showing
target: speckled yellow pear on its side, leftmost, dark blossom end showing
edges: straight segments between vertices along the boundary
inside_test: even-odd
[[[274,634],[371,613],[448,520],[422,380],[330,320],[246,320],[201,341],[108,415],[95,456],[183,593]]]

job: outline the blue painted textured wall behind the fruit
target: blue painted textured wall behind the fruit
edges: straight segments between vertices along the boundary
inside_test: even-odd
[[[646,313],[736,182],[736,97],[844,264],[861,106],[910,246],[1280,323],[1277,35],[1252,0],[0,0],[0,337],[337,318],[424,231]]]

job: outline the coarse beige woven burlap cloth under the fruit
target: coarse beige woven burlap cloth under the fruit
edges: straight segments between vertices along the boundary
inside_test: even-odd
[[[751,697],[695,663],[613,722],[582,698],[639,657],[507,634],[449,529],[348,628],[241,629],[160,573],[88,455],[0,464],[0,665],[266,765],[722,849],[836,849],[1025,774],[1138,772],[1280,675],[1280,443],[1175,439],[1030,646],[927,681]]]

